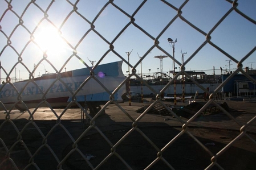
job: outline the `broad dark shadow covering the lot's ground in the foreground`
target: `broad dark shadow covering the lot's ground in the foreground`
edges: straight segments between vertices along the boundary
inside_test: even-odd
[[[3,121],[4,120],[0,120],[1,123]],[[26,119],[17,119],[13,120],[13,123],[18,129],[22,129],[28,121]],[[56,121],[42,120],[34,121],[34,123],[40,128],[40,132],[42,132],[44,136],[56,125]],[[159,154],[156,148],[152,146],[152,143],[145,139],[140,133],[140,131],[143,132],[143,134],[161,150],[181,132],[180,128],[171,127],[166,123],[139,122],[137,125],[137,129],[139,130],[132,131],[127,138],[124,138],[124,136],[132,129],[132,122],[115,122],[109,118],[109,115],[105,114],[96,119],[95,125],[100,128],[112,144],[116,144],[121,140],[120,144],[113,148],[95,128],[92,128],[92,130],[79,140],[77,146],[74,145],[74,142],[71,140],[70,136],[67,135],[65,130],[72,135],[72,138],[75,140],[78,139],[89,126],[83,128],[84,125],[80,120],[61,121],[61,125],[56,126],[55,130],[47,136],[47,140],[43,140],[38,129],[31,123],[22,134],[21,140],[24,144],[22,144],[22,142],[15,144],[18,140],[18,134],[11,123],[5,123],[0,129],[0,138],[9,149],[11,146],[14,146],[10,153],[10,158],[14,160],[19,169],[23,169],[29,164],[30,155],[26,151],[26,148],[29,149],[32,155],[36,152],[33,161],[40,169],[56,169],[58,166],[58,162],[50,150],[54,151],[61,161],[75,148],[79,149],[94,167],[101,163],[105,157],[113,154],[99,169],[127,169],[116,154],[121,156],[132,169],[145,169],[152,161],[158,158],[157,155],[159,158],[168,161],[175,169],[205,169],[211,163],[210,159],[212,156],[186,133],[181,135],[173,144],[170,144],[169,147],[166,147],[161,154]],[[213,152],[213,154],[217,154],[217,152],[227,144],[220,141],[220,136],[225,136],[227,133],[230,133],[230,131],[214,131],[209,130],[209,128],[208,130],[204,130],[204,128],[190,128],[189,131],[192,132],[202,144],[208,145],[206,147]],[[210,137],[208,136],[209,132],[211,133]],[[237,134],[234,134],[234,136],[236,135]],[[255,135],[251,137],[256,139]],[[231,140],[233,136],[229,138],[230,139],[225,140]],[[248,142],[246,139],[241,139],[239,142],[241,147],[230,147],[223,155],[217,158],[217,163],[224,169],[255,169],[255,144]],[[214,145],[212,145],[212,143],[214,143]],[[248,149],[248,144],[251,144],[250,149]],[[40,151],[38,151],[39,148]],[[3,148],[3,144],[1,144],[0,163],[5,159],[6,151]],[[91,169],[78,151],[72,152],[72,154],[67,157],[62,168]],[[12,169],[11,162],[6,161],[2,163],[0,169]],[[27,169],[36,168],[30,165]],[[169,168],[164,161],[160,159],[151,169]],[[218,168],[214,166],[212,169]]]

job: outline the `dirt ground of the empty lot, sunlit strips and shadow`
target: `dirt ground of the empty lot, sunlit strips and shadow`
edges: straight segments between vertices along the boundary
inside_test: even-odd
[[[61,161],[76,148],[73,139],[79,139],[79,142],[76,151],[64,161],[62,168],[66,170],[92,169],[78,149],[86,155],[94,168],[103,163],[99,169],[128,169],[122,160],[131,169],[145,169],[153,161],[155,163],[150,169],[205,169],[212,163],[214,155],[216,161],[210,169],[256,169],[255,121],[247,128],[245,135],[240,132],[240,128],[255,117],[255,103],[227,101],[229,113],[234,119],[221,112],[200,115],[189,123],[186,132],[181,132],[183,124],[172,115],[146,114],[136,126],[132,119],[138,119],[141,115],[136,110],[146,104],[133,101],[132,106],[129,106],[127,102],[120,103],[130,117],[116,105],[109,105],[105,110],[106,114],[98,117],[94,124],[107,140],[97,128],[91,128],[79,138],[90,126],[90,122],[81,122],[78,109],[68,110],[58,126],[56,116],[48,108],[39,109],[34,115],[33,123],[27,120],[28,113],[18,111],[11,114],[11,122],[4,122],[6,113],[0,112],[0,169],[14,169],[10,160],[3,161],[6,160],[4,146],[9,150],[11,148],[10,158],[18,169],[25,169],[32,160],[39,169],[57,169],[58,161],[51,152],[55,152]],[[172,102],[169,104],[173,105]],[[184,104],[178,103],[177,107],[182,105]],[[63,110],[55,111],[60,115]],[[186,118],[180,119],[188,121]],[[22,136],[18,136],[12,123],[19,131],[27,125]],[[135,126],[136,128],[132,128]],[[67,135],[67,131],[72,138]],[[125,135],[127,137],[124,138]],[[43,140],[43,136],[47,136],[47,140]],[[238,136],[241,137],[233,142]],[[18,139],[24,143],[17,142]],[[225,147],[225,152],[222,153]],[[30,155],[34,155],[33,159],[30,159]],[[109,159],[104,160],[108,156]],[[30,165],[26,169],[36,167]]]

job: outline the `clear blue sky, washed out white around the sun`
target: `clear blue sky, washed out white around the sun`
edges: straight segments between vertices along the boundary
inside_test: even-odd
[[[36,5],[40,6],[42,11],[47,10],[50,2],[51,1],[42,0],[35,1]],[[75,2],[76,1],[70,1],[70,3]],[[84,16],[89,22],[92,22],[107,2],[107,0],[79,1],[76,6],[78,7],[78,13]],[[143,1],[139,0],[113,1],[116,6],[119,6],[129,15],[133,15],[142,2]],[[169,0],[166,2],[179,8],[184,1]],[[14,10],[17,15],[21,16],[29,3],[30,1],[28,0],[13,1],[11,2],[11,5],[13,6],[12,10]],[[34,64],[38,64],[38,62],[43,59],[43,52],[40,51],[35,43],[30,42],[30,34],[27,30],[30,32],[34,31],[33,35],[35,42],[38,43],[41,48],[48,49],[47,59],[56,69],[52,68],[46,61],[43,61],[42,64],[38,65],[38,68],[35,71],[35,76],[42,75],[45,72],[54,73],[55,71],[59,71],[68,58],[72,56],[74,48],[76,49],[77,55],[90,66],[91,63],[89,60],[95,61],[95,63],[101,60],[101,57],[104,56],[109,49],[108,43],[101,39],[94,31],[88,32],[85,38],[82,39],[83,35],[90,30],[91,26],[84,20],[84,18],[76,13],[72,13],[67,18],[73,10],[70,3],[64,0],[55,0],[47,11],[50,22],[44,19],[39,25],[39,21],[44,16],[43,12],[37,6],[31,4],[27,7],[26,12],[22,16],[23,26],[25,26],[22,27],[18,26],[19,19],[11,11],[7,11],[3,16],[3,13],[7,9],[7,3],[5,1],[0,1],[0,16],[2,16],[0,23],[0,50],[2,52],[0,61],[2,67],[7,72],[10,72],[11,69],[14,68],[14,65],[17,64],[18,55],[21,55],[22,63],[24,63],[30,71],[32,71]],[[200,30],[208,33],[218,20],[231,9],[231,7],[231,3],[224,0],[189,1],[182,8],[182,16],[186,20],[189,20],[190,23],[200,28]],[[256,20],[256,1],[238,1],[238,9],[251,19]],[[156,39],[175,15],[177,15],[177,11],[166,5],[166,3],[149,0],[144,3],[143,7],[141,7],[135,14],[134,18],[137,25],[147,31],[153,39]],[[56,32],[52,31],[54,30],[54,27],[52,27],[51,22],[60,29],[62,38],[66,39],[69,44],[59,38]],[[119,32],[127,26],[129,22],[130,19],[127,15],[124,15],[121,11],[116,9],[115,6],[109,4],[103,13],[96,19],[94,26],[95,30],[103,36],[107,42],[113,42]],[[38,28],[36,26],[38,26]],[[48,33],[47,31],[51,31],[51,33]],[[7,36],[10,36],[13,32],[10,40],[11,45],[17,52],[9,46],[4,48],[7,44],[7,39],[3,32]],[[216,30],[213,31],[211,34],[211,41],[239,61],[255,47],[255,32],[255,24],[249,22],[235,11],[232,11]],[[181,49],[182,52],[186,52],[186,55],[184,56],[184,61],[186,61],[206,40],[204,35],[189,26],[180,18],[174,20],[158,39],[160,42],[159,46],[172,56],[172,47],[168,43],[168,38],[172,38],[173,40],[177,39],[177,43],[175,44],[175,59],[180,63],[182,63]],[[79,43],[79,41],[81,42]],[[154,45],[154,40],[133,24],[130,24],[115,40],[113,45],[115,52],[126,60],[128,60],[128,56],[125,52],[132,51],[129,56],[129,61],[132,65],[135,65],[139,61],[139,56],[144,56],[149,48]],[[147,74],[149,69],[151,69],[151,73],[157,72],[157,68],[160,69],[160,60],[155,59],[154,57],[166,55],[164,51],[155,47],[147,54],[147,56],[145,56],[142,61],[144,74]],[[121,59],[115,53],[109,52],[105,55],[100,64],[119,60]],[[206,73],[212,74],[213,67],[215,69],[220,69],[220,67],[229,69],[228,60],[229,58],[223,53],[212,47],[212,45],[206,44],[193,59],[185,65],[185,68],[187,71],[210,70]],[[180,66],[177,63],[175,66],[177,67],[176,71],[178,71],[178,67]],[[244,68],[251,68],[251,66],[253,69],[256,69],[256,52],[243,62]],[[66,71],[83,67],[84,65],[76,57],[72,57],[65,66]],[[237,64],[234,61],[231,61],[230,68],[232,69],[236,67]],[[11,73],[11,77],[20,77],[23,79],[29,78],[28,72],[23,65],[15,65],[15,68]],[[173,60],[169,57],[165,58],[163,60],[163,69],[164,72],[172,71]],[[128,71],[128,65],[124,63],[124,74],[126,71]],[[140,64],[137,67],[137,73],[140,73]],[[220,74],[220,71],[216,71],[216,73]],[[6,74],[1,71],[1,78],[4,77],[6,77]]]

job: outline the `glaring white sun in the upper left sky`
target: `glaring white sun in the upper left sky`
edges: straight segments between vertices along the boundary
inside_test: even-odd
[[[63,52],[66,52],[66,43],[60,37],[55,28],[44,28],[35,36],[35,42],[38,43],[43,52],[47,53],[49,58],[58,58]]]

